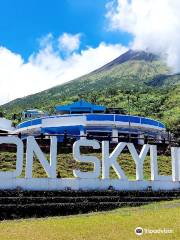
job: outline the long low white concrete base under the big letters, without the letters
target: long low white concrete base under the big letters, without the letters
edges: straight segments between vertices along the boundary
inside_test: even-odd
[[[127,181],[120,179],[78,179],[78,178],[16,178],[0,181],[0,189],[35,190],[107,190],[109,187],[114,190],[175,190],[180,189],[180,182],[176,181]]]

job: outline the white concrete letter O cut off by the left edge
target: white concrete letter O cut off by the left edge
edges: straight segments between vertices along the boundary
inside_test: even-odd
[[[16,178],[21,175],[23,169],[23,142],[18,137],[0,137],[0,144],[8,143],[17,146],[16,153],[16,170],[0,171],[0,178]]]

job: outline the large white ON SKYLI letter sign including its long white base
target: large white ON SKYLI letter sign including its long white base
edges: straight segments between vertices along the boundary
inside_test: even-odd
[[[73,170],[75,178],[56,178],[57,161],[57,138],[51,137],[50,160],[48,161],[37,144],[34,137],[27,138],[25,178],[19,178],[23,169],[23,142],[17,137],[0,137],[0,144],[15,144],[17,146],[16,169],[14,171],[0,171],[0,189],[22,189],[30,190],[61,190],[71,188],[74,190],[84,189],[108,189],[117,190],[142,190],[152,187],[159,189],[180,188],[180,148],[171,148],[172,175],[160,176],[158,174],[157,146],[145,144],[140,154],[136,151],[132,143],[119,143],[113,152],[109,151],[109,142],[102,142],[102,159],[95,156],[81,154],[80,147],[88,146],[93,149],[100,149],[100,144],[96,140],[78,140],[73,144],[73,157],[78,162],[93,164],[93,171],[84,172],[79,169]],[[126,173],[117,162],[117,157],[127,148],[135,162],[136,180],[129,181]],[[144,160],[150,155],[151,179],[144,180]],[[33,157],[36,155],[47,178],[33,178]],[[110,169],[117,174],[117,179],[110,179]]]

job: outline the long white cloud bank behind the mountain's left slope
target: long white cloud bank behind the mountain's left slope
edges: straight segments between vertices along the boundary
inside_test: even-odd
[[[97,48],[88,47],[64,59],[53,47],[54,42],[57,40],[51,34],[41,39],[39,52],[27,62],[21,55],[0,47],[0,104],[89,73],[127,50],[120,44],[102,42]]]

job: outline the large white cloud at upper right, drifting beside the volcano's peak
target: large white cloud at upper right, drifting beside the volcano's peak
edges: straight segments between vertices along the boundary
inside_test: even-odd
[[[179,0],[115,0],[107,9],[110,28],[134,36],[132,48],[161,54],[180,72]]]

